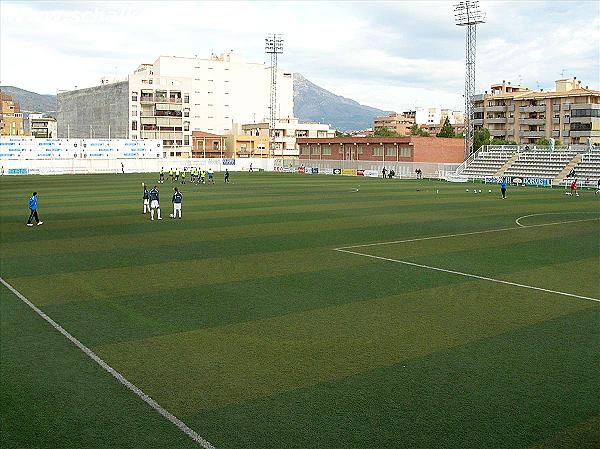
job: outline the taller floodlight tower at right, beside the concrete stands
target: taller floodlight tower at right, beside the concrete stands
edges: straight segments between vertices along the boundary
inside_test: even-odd
[[[466,29],[465,48],[465,159],[473,150],[473,113],[471,99],[475,94],[475,52],[477,48],[477,25],[485,22],[485,13],[479,9],[479,1],[466,0],[454,6],[454,18],[458,26]]]

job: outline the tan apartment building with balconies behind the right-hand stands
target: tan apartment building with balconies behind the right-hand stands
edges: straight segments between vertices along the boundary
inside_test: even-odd
[[[473,96],[475,129],[492,137],[533,144],[554,138],[565,145],[600,144],[600,91],[576,78],[555,82],[554,91],[532,91],[503,81]]]

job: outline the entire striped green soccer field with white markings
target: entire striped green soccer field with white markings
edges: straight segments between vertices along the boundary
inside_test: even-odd
[[[2,177],[1,277],[205,447],[600,447],[593,191],[233,173],[151,222],[155,177]],[[0,318],[2,448],[201,447],[5,286]]]

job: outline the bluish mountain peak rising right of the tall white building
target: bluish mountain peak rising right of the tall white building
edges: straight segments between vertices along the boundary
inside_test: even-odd
[[[357,131],[373,126],[373,117],[388,111],[364,106],[311,83],[294,73],[294,115],[302,121],[329,123],[340,131]]]

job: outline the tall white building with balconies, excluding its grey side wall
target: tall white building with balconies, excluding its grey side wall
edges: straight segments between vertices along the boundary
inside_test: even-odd
[[[166,156],[189,156],[192,131],[231,134],[269,116],[271,68],[233,52],[209,59],[160,56],[129,76],[129,138],[159,139]],[[278,71],[279,118],[293,117],[292,73]]]

